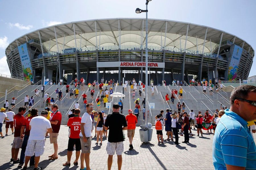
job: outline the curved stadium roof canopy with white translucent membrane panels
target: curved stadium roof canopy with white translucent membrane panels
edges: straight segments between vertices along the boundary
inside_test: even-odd
[[[6,52],[9,54],[18,45],[30,39],[39,40],[40,38],[44,47],[53,52],[58,52],[58,48],[61,52],[65,48],[75,47],[87,50],[102,47],[114,49],[119,45],[121,49],[140,48],[141,44],[144,48],[145,20],[145,18],[112,18],[54,25],[32,31],[15,39],[6,48]],[[253,48],[250,47],[250,44],[230,33],[202,25],[158,19],[148,19],[148,48],[183,51],[187,33],[186,50],[202,52],[206,30],[204,53],[211,52],[218,46],[223,33],[222,42],[233,42],[235,39],[235,44],[243,46],[247,51],[250,49],[250,54],[253,55]]]

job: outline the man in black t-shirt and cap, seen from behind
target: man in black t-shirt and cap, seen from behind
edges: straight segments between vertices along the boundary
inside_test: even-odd
[[[119,113],[118,103],[113,104],[113,112],[108,114],[104,124],[105,130],[109,129],[107,153],[108,153],[108,169],[111,169],[113,155],[117,154],[118,169],[122,166],[123,153],[123,130],[127,130],[127,122],[125,116]]]

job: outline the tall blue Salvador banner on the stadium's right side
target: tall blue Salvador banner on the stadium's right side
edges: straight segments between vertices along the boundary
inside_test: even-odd
[[[240,46],[234,45],[234,50],[228,67],[228,81],[232,81],[233,79],[236,80],[242,51],[243,49]]]

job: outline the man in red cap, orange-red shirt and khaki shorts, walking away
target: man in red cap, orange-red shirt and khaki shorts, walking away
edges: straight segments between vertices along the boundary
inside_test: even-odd
[[[133,110],[128,110],[128,115],[125,117],[127,121],[127,136],[129,138],[129,150],[133,149],[133,137],[135,133],[136,123],[138,122],[137,117],[133,114]]]

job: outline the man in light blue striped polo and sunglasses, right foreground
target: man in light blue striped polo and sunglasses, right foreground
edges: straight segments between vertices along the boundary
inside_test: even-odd
[[[256,87],[236,87],[230,97],[230,109],[215,130],[213,165],[215,169],[256,169],[256,146],[247,121],[256,119]]]

